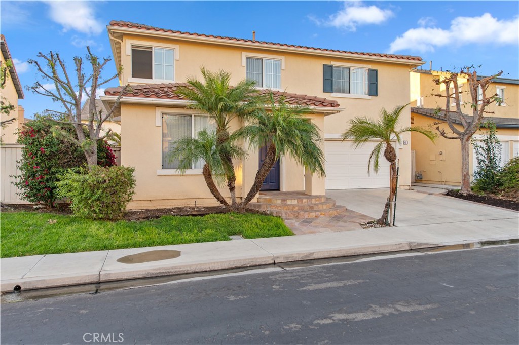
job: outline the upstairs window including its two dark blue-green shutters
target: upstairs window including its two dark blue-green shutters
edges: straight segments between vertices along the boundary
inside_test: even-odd
[[[370,68],[323,65],[323,92],[377,96],[378,71]]]

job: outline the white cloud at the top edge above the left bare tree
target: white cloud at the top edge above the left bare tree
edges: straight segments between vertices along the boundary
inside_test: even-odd
[[[100,34],[103,24],[95,18],[92,3],[85,1],[48,1],[49,16],[63,26],[63,31],[76,30]]]

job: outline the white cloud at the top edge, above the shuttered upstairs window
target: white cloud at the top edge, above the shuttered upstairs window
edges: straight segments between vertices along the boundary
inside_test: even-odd
[[[374,5],[365,6],[361,2],[345,2],[344,8],[331,15],[327,20],[309,18],[318,25],[356,31],[359,25],[381,24],[392,16],[393,12],[389,9],[381,9]]]

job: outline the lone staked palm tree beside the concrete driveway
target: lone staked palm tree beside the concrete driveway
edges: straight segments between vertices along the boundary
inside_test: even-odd
[[[354,148],[364,145],[368,141],[380,140],[373,151],[371,151],[370,158],[367,163],[367,172],[370,173],[371,162],[373,161],[373,170],[378,172],[378,159],[382,149],[384,148],[384,157],[391,164],[389,171],[390,186],[389,199],[384,207],[382,216],[377,220],[377,224],[383,225],[386,222],[389,205],[393,202],[395,191],[397,190],[397,152],[395,151],[391,141],[397,140],[401,143],[401,134],[404,132],[417,132],[424,134],[431,141],[434,141],[436,135],[429,129],[421,127],[404,127],[397,129],[400,114],[406,105],[398,105],[388,113],[385,108],[380,111],[380,118],[372,120],[367,117],[355,117],[348,121],[350,128],[347,129],[343,135],[343,141],[350,139],[353,141]]]

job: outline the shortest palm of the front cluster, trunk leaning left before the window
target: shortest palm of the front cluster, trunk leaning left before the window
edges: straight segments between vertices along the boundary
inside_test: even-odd
[[[198,132],[196,138],[186,136],[175,141],[173,143],[174,148],[169,152],[168,158],[170,162],[177,161],[179,163],[178,169],[181,173],[203,160],[202,175],[206,180],[207,187],[216,200],[228,207],[229,204],[218,190],[214,179],[220,184],[224,182],[225,176],[228,176],[229,172],[234,170],[233,166],[229,165],[222,157],[242,159],[247,155],[241,146],[235,144],[237,139],[237,135],[230,134],[227,142],[218,144],[215,132],[202,130]]]

